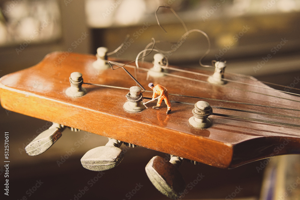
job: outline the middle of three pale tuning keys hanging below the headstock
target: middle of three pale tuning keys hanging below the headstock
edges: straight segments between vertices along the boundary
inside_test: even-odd
[[[92,171],[104,171],[119,165],[124,157],[119,148],[121,145],[121,141],[109,138],[105,146],[93,148],[83,155],[82,166]]]

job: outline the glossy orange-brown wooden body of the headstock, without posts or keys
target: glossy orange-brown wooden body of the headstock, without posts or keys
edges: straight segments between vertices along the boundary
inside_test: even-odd
[[[123,62],[115,58],[112,61]],[[72,72],[82,73],[85,83],[112,85],[130,88],[136,83],[121,68],[98,71],[92,67],[95,55],[54,52],[39,64],[25,70],[3,76],[0,79],[1,105],[10,111],[57,122],[102,136],[184,157],[219,168],[234,168],[265,157],[299,154],[299,128],[286,125],[233,119],[216,115],[209,116],[212,126],[207,129],[193,128],[188,119],[193,116],[193,105],[172,103],[172,112],[167,115],[167,106],[152,109],[155,102],[148,103],[149,109],[128,112],[123,108],[127,101],[126,89],[116,89],[83,84],[87,94],[82,97],[68,97],[69,76]],[[134,65],[134,64],[131,64]],[[135,66],[135,65],[134,65]],[[144,63],[144,68],[153,67]],[[178,67],[177,67],[178,68]],[[134,69],[126,67],[134,75]],[[211,75],[211,72],[189,69]],[[168,70],[174,76],[146,80],[145,71],[137,72],[137,80],[148,88],[148,83],[163,85],[169,94],[230,100],[243,103],[262,104],[284,108],[300,109],[300,98],[279,91],[268,90],[235,82],[214,85],[206,76]],[[228,74],[225,78],[239,82],[268,87],[253,77]],[[267,95],[265,95],[267,94]],[[152,92],[144,92],[144,97],[152,97]],[[276,98],[283,97],[291,100]],[[170,95],[170,100],[196,103],[191,97]],[[260,106],[205,100],[211,106],[267,112],[292,117],[300,117],[300,112]],[[300,124],[298,118],[274,117],[247,112],[213,109],[214,113],[237,115],[288,124]]]

